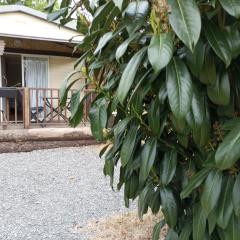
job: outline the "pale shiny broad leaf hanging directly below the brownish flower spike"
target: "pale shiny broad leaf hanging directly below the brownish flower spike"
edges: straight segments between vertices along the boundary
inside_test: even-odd
[[[171,33],[160,33],[152,36],[148,47],[148,59],[155,72],[160,72],[171,61],[173,39]]]

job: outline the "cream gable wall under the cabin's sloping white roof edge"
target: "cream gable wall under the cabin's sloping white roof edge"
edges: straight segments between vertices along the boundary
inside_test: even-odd
[[[56,41],[67,42],[76,34],[77,32],[74,30],[64,27],[59,28],[57,24],[25,13],[9,12],[0,14],[0,35],[2,36],[42,40],[55,39]],[[80,41],[82,37],[75,40]]]

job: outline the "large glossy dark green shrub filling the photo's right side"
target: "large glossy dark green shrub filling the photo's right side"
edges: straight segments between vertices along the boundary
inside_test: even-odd
[[[140,217],[161,206],[167,239],[239,239],[240,2],[81,4],[93,19],[76,69],[95,86],[90,120],[108,144],[104,174],[113,185],[120,166],[117,189],[126,206],[138,199]]]

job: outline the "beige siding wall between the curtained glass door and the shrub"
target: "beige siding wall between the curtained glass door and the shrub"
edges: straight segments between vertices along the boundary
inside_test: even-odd
[[[69,73],[74,71],[75,58],[69,57],[49,57],[49,87],[50,88],[60,88],[63,81]],[[77,75],[74,76],[74,79]],[[82,75],[78,75],[81,78],[81,83],[84,83],[84,78]],[[78,88],[80,82],[77,82],[73,88]]]

